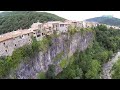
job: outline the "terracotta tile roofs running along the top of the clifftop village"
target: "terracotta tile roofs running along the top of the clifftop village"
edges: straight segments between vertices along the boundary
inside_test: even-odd
[[[41,25],[41,24],[42,24],[43,28],[45,28],[45,30],[47,30],[47,29],[49,29],[49,27],[53,27],[53,24],[56,24],[56,23],[58,23],[58,24],[71,24],[72,22],[78,22],[78,21],[66,20],[65,22],[49,21],[47,23],[40,23],[40,22],[33,23],[31,25],[31,28],[29,28],[29,29],[24,29],[24,30],[18,29],[17,31],[13,31],[13,32],[9,32],[9,33],[0,35],[0,42],[11,39],[11,38],[18,37],[20,35],[25,35],[25,34],[28,34],[28,33],[32,33],[34,31],[36,31],[39,28],[38,25]],[[86,24],[93,24],[91,22],[81,21],[81,23],[83,23],[83,22],[85,22]]]

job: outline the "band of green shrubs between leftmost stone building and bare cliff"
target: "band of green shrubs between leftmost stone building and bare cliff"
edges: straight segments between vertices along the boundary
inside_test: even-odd
[[[23,47],[16,49],[12,56],[0,57],[0,78],[9,75],[11,70],[17,68],[21,62],[26,62],[29,58],[33,58],[39,51],[42,50],[45,52],[47,48],[51,46],[53,37],[46,36],[41,41],[37,41],[32,37],[32,44],[24,45]],[[40,76],[44,78],[43,74],[40,74],[38,77]]]

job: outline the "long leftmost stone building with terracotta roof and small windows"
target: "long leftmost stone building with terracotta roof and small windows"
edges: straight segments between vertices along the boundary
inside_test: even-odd
[[[11,56],[13,51],[31,43],[31,30],[18,30],[0,35],[0,56]]]

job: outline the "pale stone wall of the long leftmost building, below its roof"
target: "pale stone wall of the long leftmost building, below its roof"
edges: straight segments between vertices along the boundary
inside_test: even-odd
[[[28,34],[23,35],[22,38],[19,36],[14,39],[0,42],[0,56],[11,56],[15,49],[22,47],[25,44],[30,44],[31,42],[31,35],[28,36]]]

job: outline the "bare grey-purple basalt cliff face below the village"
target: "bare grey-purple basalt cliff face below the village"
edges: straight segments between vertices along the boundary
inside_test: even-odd
[[[80,32],[74,35],[61,34],[59,37],[52,39],[52,45],[45,52],[40,51],[35,57],[30,58],[27,62],[21,63],[14,73],[9,75],[9,78],[36,79],[37,74],[46,72],[50,64],[55,65],[56,74],[58,74],[63,69],[60,64],[61,61],[67,58],[66,60],[69,62],[68,58],[76,50],[84,51],[87,49],[93,41],[93,38],[93,32],[86,32],[83,35]]]

